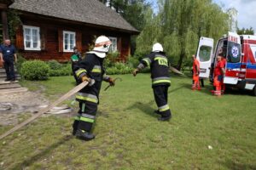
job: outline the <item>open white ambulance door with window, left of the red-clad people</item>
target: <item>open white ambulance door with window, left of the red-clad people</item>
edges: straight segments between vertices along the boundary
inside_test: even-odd
[[[209,37],[201,37],[197,53],[196,59],[200,62],[200,75],[199,77],[208,78],[210,75],[210,67],[212,62],[212,53],[213,53],[213,43],[214,40]]]

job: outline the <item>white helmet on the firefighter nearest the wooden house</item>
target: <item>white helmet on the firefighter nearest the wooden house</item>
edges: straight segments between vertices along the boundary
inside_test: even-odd
[[[97,37],[93,51],[90,53],[96,54],[100,58],[105,58],[111,45],[111,41],[106,36]]]

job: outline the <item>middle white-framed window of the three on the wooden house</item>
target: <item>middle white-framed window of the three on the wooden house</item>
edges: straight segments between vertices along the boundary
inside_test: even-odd
[[[76,46],[76,32],[63,31],[63,51],[73,52],[74,46]]]

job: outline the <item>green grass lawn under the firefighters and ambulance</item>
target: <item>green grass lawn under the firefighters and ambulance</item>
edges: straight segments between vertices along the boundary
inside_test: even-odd
[[[218,98],[208,83],[191,91],[191,79],[172,76],[173,117],[158,122],[149,75],[114,77],[123,82],[101,93],[96,139],[71,136],[72,116],[43,116],[0,141],[0,169],[256,169],[256,97],[250,93]],[[73,77],[22,84],[51,100],[74,86]]]

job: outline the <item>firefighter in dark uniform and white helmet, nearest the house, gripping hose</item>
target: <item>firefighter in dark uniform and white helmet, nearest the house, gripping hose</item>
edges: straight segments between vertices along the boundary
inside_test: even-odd
[[[81,89],[76,95],[79,101],[79,115],[73,122],[73,135],[79,139],[94,139],[95,135],[90,133],[96,119],[97,105],[99,104],[99,93],[102,81],[114,85],[113,78],[105,75],[103,60],[111,45],[108,37],[100,36],[96,38],[95,48],[88,52],[78,65],[74,66],[74,71],[80,82],[87,81],[89,84]]]

